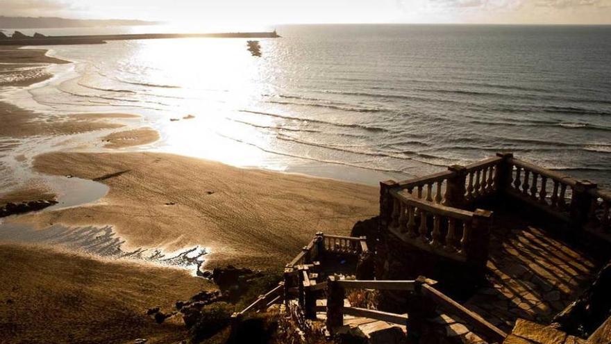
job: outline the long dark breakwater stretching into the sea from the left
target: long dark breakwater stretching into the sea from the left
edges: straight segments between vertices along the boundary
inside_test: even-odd
[[[160,40],[174,38],[280,38],[276,31],[271,32],[236,32],[236,33],[137,33],[125,35],[69,35],[34,37],[17,34],[0,38],[0,45],[69,45],[69,44],[104,44],[111,40]]]

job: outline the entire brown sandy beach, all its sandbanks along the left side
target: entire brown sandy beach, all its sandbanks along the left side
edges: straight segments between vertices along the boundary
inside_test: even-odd
[[[7,63],[62,63],[40,50],[1,49],[0,56]],[[10,86],[49,77],[22,78]],[[58,151],[35,156],[32,173],[108,187],[95,202],[9,216],[2,219],[4,226],[24,225],[37,233],[54,225],[75,233],[105,227],[112,229],[122,252],[204,247],[202,270],[231,264],[280,271],[317,231],[349,234],[354,222],[371,218],[378,209],[378,190],[372,186],[138,151],[160,136],[150,127],[133,125],[138,120],[134,113],[55,115],[0,103],[0,120],[6,124],[0,126],[5,142],[87,135],[76,149],[58,145]],[[57,199],[63,191],[39,179],[26,180],[2,190],[0,205]],[[10,304],[0,320],[13,341],[106,343],[146,337],[149,343],[167,343],[185,336],[184,328],[178,320],[155,324],[143,316],[147,307],[169,309],[176,300],[214,288],[194,277],[192,268],[21,238],[26,239],[4,237],[0,244],[0,298]],[[35,314],[50,318],[43,323]]]

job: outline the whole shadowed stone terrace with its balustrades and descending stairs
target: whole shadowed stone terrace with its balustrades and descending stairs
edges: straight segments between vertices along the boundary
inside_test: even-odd
[[[608,344],[610,208],[610,190],[511,153],[383,181],[376,218],[318,233],[234,326],[275,307],[303,338]]]

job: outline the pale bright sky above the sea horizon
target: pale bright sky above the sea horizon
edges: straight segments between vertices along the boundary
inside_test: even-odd
[[[611,0],[0,0],[1,15],[206,26],[301,23],[611,24]]]

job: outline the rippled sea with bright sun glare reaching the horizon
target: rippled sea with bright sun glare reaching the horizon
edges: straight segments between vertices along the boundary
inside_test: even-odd
[[[513,151],[611,186],[611,26],[277,30],[260,57],[242,39],[48,47],[74,64],[0,97],[140,114],[161,134],[140,149],[237,166],[376,184]]]

